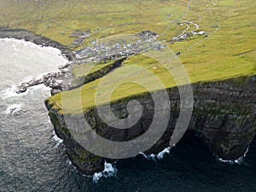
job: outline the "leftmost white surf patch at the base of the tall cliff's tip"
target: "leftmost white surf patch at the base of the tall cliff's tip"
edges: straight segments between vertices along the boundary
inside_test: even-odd
[[[97,183],[102,177],[114,177],[117,174],[117,168],[110,163],[105,161],[103,172],[94,173],[92,180]]]

